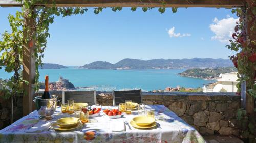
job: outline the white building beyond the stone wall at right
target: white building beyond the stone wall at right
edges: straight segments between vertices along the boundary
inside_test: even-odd
[[[203,92],[237,92],[237,73],[230,72],[220,74],[217,82],[204,86]]]

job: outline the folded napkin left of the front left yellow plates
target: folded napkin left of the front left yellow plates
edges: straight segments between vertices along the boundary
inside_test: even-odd
[[[43,121],[43,122],[39,122],[37,124],[35,124],[33,127],[31,127],[30,129],[26,130],[27,133],[40,133],[43,131],[48,130],[52,125],[52,122],[50,121]]]

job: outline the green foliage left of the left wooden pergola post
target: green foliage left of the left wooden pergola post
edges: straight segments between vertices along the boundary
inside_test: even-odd
[[[6,72],[14,72],[10,80],[0,80],[0,95],[4,99],[23,93],[24,80],[21,76],[22,47],[23,47],[23,19],[22,13],[8,16],[11,32],[4,31],[0,41],[0,67]],[[26,82],[27,83],[27,82]]]

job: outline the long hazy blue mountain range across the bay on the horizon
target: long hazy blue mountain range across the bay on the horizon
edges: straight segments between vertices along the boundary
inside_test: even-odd
[[[191,69],[231,67],[229,59],[193,58],[193,59],[123,59],[116,64],[96,61],[79,68],[84,69]]]

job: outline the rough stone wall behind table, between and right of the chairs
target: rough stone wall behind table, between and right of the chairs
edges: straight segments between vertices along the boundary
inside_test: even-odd
[[[143,92],[142,100],[147,105],[165,105],[203,135],[239,135],[240,96],[234,93]],[[97,93],[97,102],[113,105],[112,93]]]

